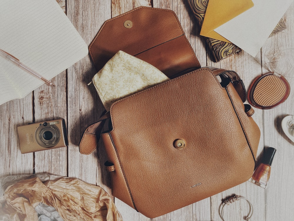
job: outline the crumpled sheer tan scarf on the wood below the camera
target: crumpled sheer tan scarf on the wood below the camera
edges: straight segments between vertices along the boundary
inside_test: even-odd
[[[40,203],[54,207],[66,221],[122,220],[114,202],[101,187],[49,174],[34,175],[24,180],[18,180],[17,176],[9,177],[12,177],[12,185],[3,179],[0,181],[2,189],[5,188],[4,195],[0,188],[0,220],[38,221],[34,208]]]

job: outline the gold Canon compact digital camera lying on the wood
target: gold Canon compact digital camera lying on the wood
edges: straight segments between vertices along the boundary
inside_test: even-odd
[[[69,145],[64,119],[18,126],[22,154]]]

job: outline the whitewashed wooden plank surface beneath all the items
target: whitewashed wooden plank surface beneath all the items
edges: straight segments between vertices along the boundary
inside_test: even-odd
[[[103,22],[138,6],[153,6],[175,11],[201,66],[215,66],[235,70],[248,89],[251,81],[265,73],[265,56],[294,48],[294,5],[283,19],[287,29],[270,37],[255,58],[239,52],[220,62],[211,61],[205,40],[199,37],[197,23],[186,0],[59,0],[67,16],[89,45]],[[270,15],[269,15],[270,16]],[[76,177],[96,184],[111,194],[109,174],[103,168],[106,154],[100,141],[97,151],[81,155],[78,144],[85,128],[95,122],[103,110],[94,87],[87,86],[96,73],[89,56],[52,79],[55,88],[42,85],[20,100],[12,100],[0,106],[0,177],[16,174],[48,172],[61,176]],[[258,156],[264,146],[277,149],[267,189],[245,182],[212,197],[176,210],[156,221],[219,221],[222,199],[238,194],[248,197],[254,206],[251,220],[294,220],[294,143],[283,133],[280,123],[284,116],[294,114],[294,73],[287,77],[293,90],[282,105],[271,110],[255,108],[253,118],[261,130]],[[64,118],[68,126],[70,144],[67,148],[21,154],[16,127],[30,122]],[[114,199],[126,221],[151,220]],[[164,203],[164,202],[163,202]],[[227,220],[244,220],[249,207],[246,201],[238,201],[225,209]]]

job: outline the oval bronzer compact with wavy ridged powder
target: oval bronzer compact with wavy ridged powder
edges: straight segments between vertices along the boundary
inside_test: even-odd
[[[248,90],[248,102],[260,109],[270,109],[283,103],[290,94],[288,81],[280,74],[268,72],[256,77]]]

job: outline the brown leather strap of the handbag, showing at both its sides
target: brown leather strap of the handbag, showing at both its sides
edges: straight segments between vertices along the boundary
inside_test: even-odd
[[[234,72],[225,69],[218,69],[215,67],[209,67],[211,71],[216,76],[220,76],[222,80],[228,79],[233,84],[234,88],[238,92],[240,98],[243,102],[246,101],[247,93],[243,81],[241,80],[240,76]],[[83,133],[81,138],[81,142],[79,144],[80,153],[81,154],[91,154],[98,144],[100,139],[100,134],[103,129],[104,123],[106,119],[110,118],[110,112],[103,111],[100,118],[96,123],[91,124],[88,126]]]

